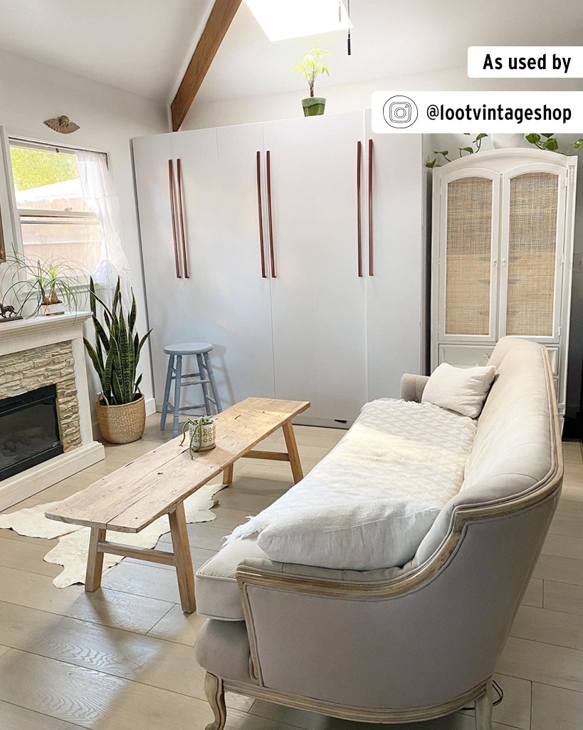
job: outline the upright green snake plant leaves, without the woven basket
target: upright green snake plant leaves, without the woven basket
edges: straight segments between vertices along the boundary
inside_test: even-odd
[[[95,328],[95,345],[84,337],[85,348],[95,372],[101,383],[101,396],[104,405],[120,406],[135,401],[140,395],[141,375],[136,377],[136,369],[140,359],[141,348],[152,330],[139,337],[134,331],[136,326],[136,296],[132,292],[132,306],[127,320],[123,312],[120,294],[120,277],[111,301],[111,309],[95,293],[93,278],[89,284],[89,301]],[[97,305],[101,304],[103,322],[97,314]]]

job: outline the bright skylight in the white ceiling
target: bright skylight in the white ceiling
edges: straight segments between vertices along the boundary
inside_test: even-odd
[[[348,28],[342,0],[246,0],[270,41]]]

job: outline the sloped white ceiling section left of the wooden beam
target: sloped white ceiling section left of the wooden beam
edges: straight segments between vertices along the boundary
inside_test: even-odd
[[[212,0],[0,0],[0,49],[168,101],[211,4]]]

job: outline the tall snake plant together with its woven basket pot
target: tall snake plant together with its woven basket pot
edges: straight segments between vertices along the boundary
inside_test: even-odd
[[[97,400],[97,420],[103,438],[114,444],[127,444],[141,439],[146,425],[144,394],[140,392],[141,375],[136,377],[141,348],[148,339],[149,330],[140,339],[136,326],[136,297],[132,293],[132,306],[126,321],[120,279],[114,291],[111,309],[95,293],[95,283],[90,280],[89,298],[95,346],[84,338],[87,354],[101,383]],[[103,309],[103,327],[97,316],[97,304]]]

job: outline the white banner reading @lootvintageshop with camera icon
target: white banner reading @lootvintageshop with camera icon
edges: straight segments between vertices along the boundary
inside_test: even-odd
[[[403,96],[375,91],[372,94],[372,131],[376,134],[530,134],[542,129],[583,137],[583,92],[415,91],[411,96]]]

